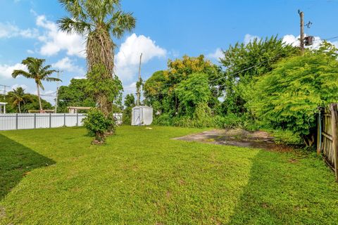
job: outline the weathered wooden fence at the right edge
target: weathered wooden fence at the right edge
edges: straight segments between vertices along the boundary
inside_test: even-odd
[[[338,104],[320,110],[318,120],[317,153],[323,154],[327,165],[336,175],[338,181]]]

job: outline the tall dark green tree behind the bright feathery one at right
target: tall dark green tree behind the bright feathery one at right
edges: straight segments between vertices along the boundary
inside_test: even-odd
[[[225,67],[222,85],[225,89],[223,113],[246,113],[243,91],[251,89],[254,77],[261,77],[273,70],[273,65],[298,53],[298,49],[284,44],[282,39],[270,37],[253,39],[248,44],[235,44],[223,51],[220,63]]]

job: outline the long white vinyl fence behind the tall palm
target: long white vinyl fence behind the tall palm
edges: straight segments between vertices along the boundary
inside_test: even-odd
[[[113,114],[122,124],[122,113]],[[0,130],[82,126],[84,113],[7,113],[0,114]]]

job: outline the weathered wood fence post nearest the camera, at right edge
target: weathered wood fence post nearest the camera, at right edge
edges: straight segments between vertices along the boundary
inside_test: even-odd
[[[331,125],[332,125],[332,148],[334,157],[334,174],[336,175],[336,181],[338,182],[338,135],[337,135],[337,120],[338,120],[338,107],[337,103],[330,105],[331,110]]]

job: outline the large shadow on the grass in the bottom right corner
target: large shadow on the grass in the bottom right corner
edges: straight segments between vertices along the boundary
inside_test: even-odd
[[[334,176],[320,160],[305,158],[263,150],[258,153],[229,224],[337,222]]]

